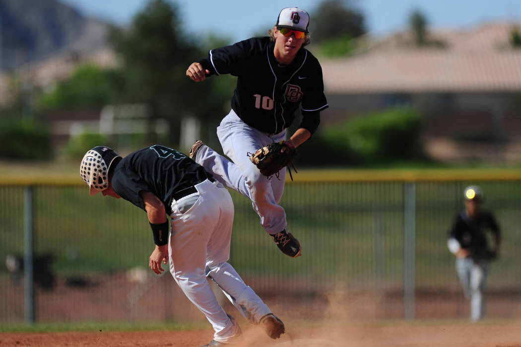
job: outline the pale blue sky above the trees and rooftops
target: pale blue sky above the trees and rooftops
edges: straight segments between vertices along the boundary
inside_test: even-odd
[[[59,0],[75,5],[86,15],[125,24],[147,0]],[[239,41],[275,24],[283,7],[300,7],[313,15],[319,0],[288,2],[249,0],[178,0],[188,32],[224,35]],[[407,26],[408,15],[418,9],[432,27],[468,28],[487,22],[508,20],[521,23],[521,0],[351,0],[365,16],[367,29],[384,35]],[[259,6],[259,4],[261,4]],[[313,32],[313,23],[310,29]]]

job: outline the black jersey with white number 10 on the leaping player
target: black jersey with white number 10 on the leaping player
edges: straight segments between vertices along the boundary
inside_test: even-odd
[[[320,111],[328,107],[322,68],[305,48],[289,65],[280,65],[274,55],[275,42],[252,37],[210,50],[201,65],[212,74],[237,76],[231,108],[248,125],[277,134],[294,121],[301,105],[302,123],[312,134],[320,123]]]

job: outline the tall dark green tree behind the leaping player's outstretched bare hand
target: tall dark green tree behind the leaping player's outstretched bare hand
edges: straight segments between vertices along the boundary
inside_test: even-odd
[[[190,63],[206,54],[182,32],[178,5],[151,0],[133,19],[128,30],[114,29],[110,41],[125,71],[125,97],[151,106],[151,120],[167,119],[178,129],[184,115],[207,119],[224,100],[212,91],[213,83],[194,83],[186,76]],[[154,141],[153,134],[148,138]],[[170,139],[177,144],[178,132]]]

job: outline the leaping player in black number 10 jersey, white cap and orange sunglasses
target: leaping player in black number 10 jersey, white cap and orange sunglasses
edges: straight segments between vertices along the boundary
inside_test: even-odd
[[[284,8],[269,36],[212,49],[207,58],[187,70],[195,82],[207,75],[237,76],[231,111],[217,127],[224,154],[232,162],[201,141],[192,146],[190,156],[213,172],[219,182],[250,198],[266,232],[291,257],[301,254],[301,246],[288,233],[286,212],[279,205],[286,168],[279,172],[280,179],[268,179],[248,153],[281,140],[293,147],[301,145],[317,130],[320,111],[328,107],[320,64],[304,48],[309,43],[308,24],[306,11]],[[299,108],[302,122],[286,139],[286,130]]]

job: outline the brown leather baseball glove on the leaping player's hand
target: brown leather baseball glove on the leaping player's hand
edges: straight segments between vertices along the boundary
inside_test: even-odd
[[[279,178],[279,171],[281,169],[285,166],[288,166],[288,169],[289,165],[293,166],[293,159],[295,159],[297,155],[297,150],[291,143],[281,141],[259,148],[255,153],[248,153],[248,155],[252,163],[254,163],[268,179],[273,175]],[[295,170],[295,166],[293,166],[293,170]],[[295,170],[295,172],[297,171]],[[291,169],[289,173],[293,181]]]

